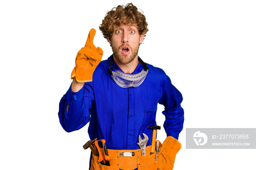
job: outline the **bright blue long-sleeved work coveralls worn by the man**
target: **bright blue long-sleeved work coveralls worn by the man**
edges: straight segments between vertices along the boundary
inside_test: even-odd
[[[64,130],[79,130],[90,121],[88,133],[91,140],[105,139],[109,149],[139,149],[138,136],[143,138],[142,133],[149,138],[147,146],[151,145],[152,129],[147,126],[156,124],[159,103],[165,106],[162,113],[166,117],[163,127],[167,136],[178,139],[184,122],[180,105],[182,95],[170,78],[162,69],[147,64],[148,74],[139,87],[121,88],[108,73],[110,57],[96,67],[92,82],[85,82],[76,93],[70,86],[61,98],[59,119]],[[115,62],[111,67],[121,71]],[[139,63],[132,74],[138,74],[142,69]]]

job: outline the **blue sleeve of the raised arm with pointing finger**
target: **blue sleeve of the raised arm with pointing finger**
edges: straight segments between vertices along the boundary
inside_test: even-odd
[[[90,120],[90,109],[93,103],[92,82],[85,82],[83,88],[78,92],[72,92],[70,86],[67,93],[61,98],[59,105],[58,115],[63,129],[66,132],[72,132],[84,127]]]

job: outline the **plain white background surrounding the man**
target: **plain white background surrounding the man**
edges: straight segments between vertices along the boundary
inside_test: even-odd
[[[59,101],[76,53],[107,11],[130,1],[10,0],[0,3],[0,169],[88,169],[88,125],[65,132]],[[256,3],[253,0],[139,1],[149,31],[139,56],[161,67],[183,95],[184,130],[174,169],[255,169],[255,150],[189,150],[185,128],[255,128]],[[157,124],[164,116],[159,106]],[[163,142],[166,134],[158,131]],[[118,142],[118,139],[117,139]]]

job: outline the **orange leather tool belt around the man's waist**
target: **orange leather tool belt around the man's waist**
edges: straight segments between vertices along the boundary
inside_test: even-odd
[[[90,170],[156,170],[156,153],[150,155],[151,146],[146,147],[146,155],[142,156],[141,150],[111,150],[108,149],[110,166],[101,165],[98,156],[93,155]],[[103,148],[100,148],[103,153]],[[105,162],[105,159],[103,160]]]

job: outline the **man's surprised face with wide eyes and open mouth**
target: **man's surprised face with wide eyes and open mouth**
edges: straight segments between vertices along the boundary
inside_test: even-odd
[[[108,38],[114,57],[122,64],[132,62],[138,56],[139,45],[143,42],[144,35],[140,35],[135,26],[116,27],[111,39]]]

